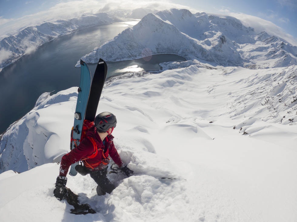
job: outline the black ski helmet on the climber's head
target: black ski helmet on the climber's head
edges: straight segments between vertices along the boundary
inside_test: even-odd
[[[102,132],[106,132],[110,127],[115,127],[116,124],[117,119],[115,118],[115,115],[110,112],[100,113],[94,120],[95,127]]]

